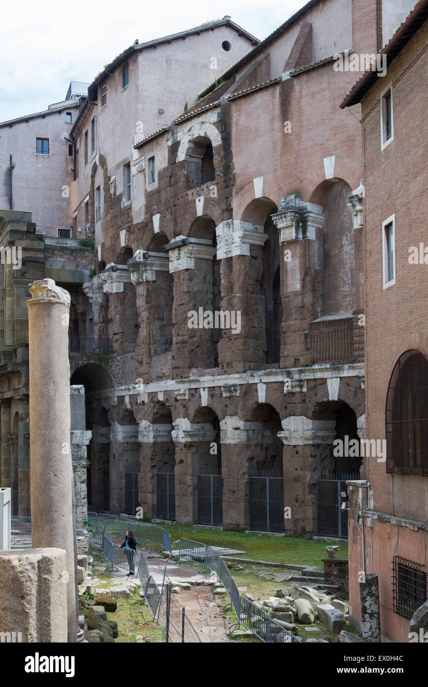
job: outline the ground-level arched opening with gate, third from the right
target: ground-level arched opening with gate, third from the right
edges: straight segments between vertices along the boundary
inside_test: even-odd
[[[198,442],[198,453],[194,454],[193,466],[198,475],[198,523],[222,525],[222,444],[219,419],[213,409],[203,407],[195,413],[192,423],[202,425],[205,433],[204,440]]]

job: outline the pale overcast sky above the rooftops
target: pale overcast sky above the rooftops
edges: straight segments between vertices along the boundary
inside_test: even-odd
[[[0,122],[65,98],[124,49],[226,14],[260,40],[307,0],[3,0]]]

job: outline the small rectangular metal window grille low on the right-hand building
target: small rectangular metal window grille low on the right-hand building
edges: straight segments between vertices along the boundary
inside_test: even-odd
[[[412,618],[428,599],[425,565],[401,556],[392,559],[392,607],[403,618]]]

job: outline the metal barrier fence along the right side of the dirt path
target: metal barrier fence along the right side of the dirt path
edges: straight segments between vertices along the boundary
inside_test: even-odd
[[[180,539],[178,550],[178,560],[183,558],[194,563],[202,563],[208,570],[213,570],[217,574],[230,598],[230,603],[237,617],[238,627],[243,625],[262,642],[269,644],[302,641],[275,620],[268,618],[268,613],[257,604],[245,596],[241,596],[237,583],[230,574],[222,556],[217,554],[211,546],[191,539]]]

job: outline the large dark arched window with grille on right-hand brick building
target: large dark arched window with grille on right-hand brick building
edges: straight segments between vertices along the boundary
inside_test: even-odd
[[[386,400],[389,473],[428,475],[428,361],[407,350],[391,375]]]

